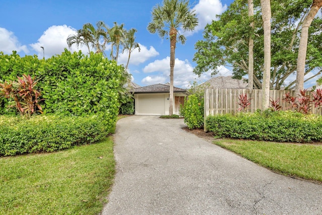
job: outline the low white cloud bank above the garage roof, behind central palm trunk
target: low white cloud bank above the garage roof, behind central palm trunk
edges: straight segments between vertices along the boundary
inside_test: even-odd
[[[220,73],[227,75],[226,67],[220,68]],[[154,62],[149,63],[143,68],[144,73],[149,73],[141,82],[146,85],[152,84],[165,84],[170,82],[170,57],[166,57],[161,60],[155,60]],[[155,74],[155,75],[154,75]],[[211,71],[204,73],[199,78],[193,73],[193,66],[190,62],[186,60],[175,59],[175,69],[174,69],[174,86],[179,88],[189,88],[191,83],[196,81],[197,83],[202,83],[208,81],[211,78]]]

